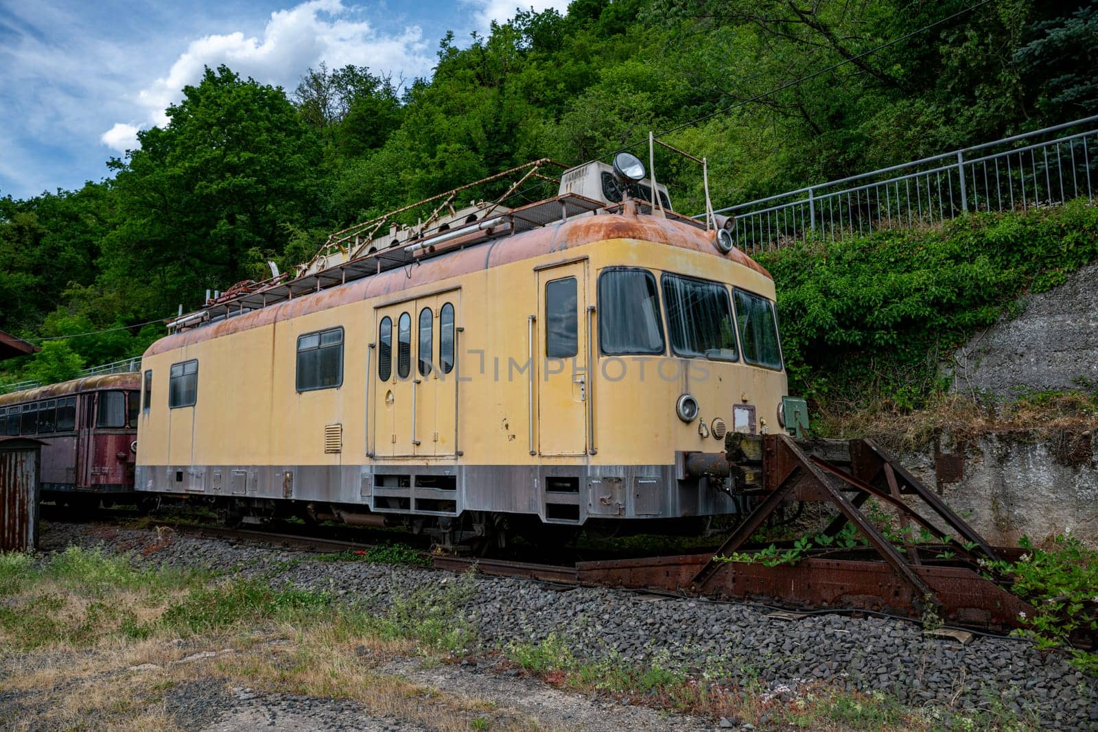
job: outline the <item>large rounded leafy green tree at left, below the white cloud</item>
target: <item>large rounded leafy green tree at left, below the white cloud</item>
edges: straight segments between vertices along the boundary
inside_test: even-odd
[[[101,282],[152,316],[260,278],[289,225],[324,219],[320,142],[281,89],[208,68],[167,114],[112,161],[120,221]]]

